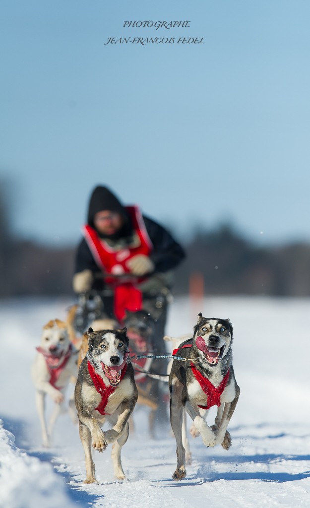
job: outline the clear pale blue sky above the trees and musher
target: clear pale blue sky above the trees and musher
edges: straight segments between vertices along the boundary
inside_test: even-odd
[[[76,242],[107,184],[184,240],[230,221],[259,243],[310,241],[309,21],[307,0],[3,0],[0,178],[14,232]]]

